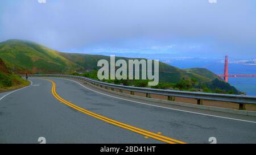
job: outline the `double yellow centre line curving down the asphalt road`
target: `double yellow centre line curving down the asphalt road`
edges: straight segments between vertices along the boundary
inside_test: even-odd
[[[128,124],[125,124],[125,123],[121,123],[121,122],[118,122],[116,120],[113,120],[113,119],[109,119],[109,118],[106,118],[104,116],[101,116],[101,115],[98,115],[94,112],[91,112],[91,111],[88,111],[88,110],[85,110],[84,108],[81,108],[79,106],[76,106],[75,104],[72,104],[70,102],[68,102],[67,100],[64,100],[63,98],[61,98],[57,93],[56,93],[56,85],[55,85],[55,82],[52,81],[51,79],[46,79],[47,81],[50,81],[52,82],[52,94],[53,96],[58,99],[60,102],[66,104],[67,106],[69,107],[72,107],[74,108],[75,110],[78,110],[84,114],[87,114],[87,115],[90,115],[90,116],[93,116],[94,118],[97,118],[97,119],[100,119],[100,120],[103,120],[104,122],[108,122],[110,124],[113,124],[113,125],[116,125],[118,127],[121,127],[121,128],[124,128],[124,129],[128,129],[130,131],[133,131],[133,132],[136,132],[136,133],[139,133],[141,135],[144,135],[144,136],[147,136],[147,137],[151,137],[152,139],[156,139],[156,140],[160,140],[160,141],[163,141],[163,142],[166,142],[166,143],[170,143],[170,144],[185,144],[184,142],[182,141],[179,141],[179,140],[175,140],[175,139],[171,139],[169,137],[166,137],[166,136],[162,136],[162,135],[159,135],[157,133],[153,133],[153,132],[149,132],[149,131],[146,131],[144,129],[140,129],[140,128],[137,128],[137,127],[133,127],[131,125],[128,125]]]

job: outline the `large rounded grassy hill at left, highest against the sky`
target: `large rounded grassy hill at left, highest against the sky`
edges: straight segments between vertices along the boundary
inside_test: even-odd
[[[81,68],[58,52],[30,41],[3,41],[0,58],[15,73],[71,73]]]

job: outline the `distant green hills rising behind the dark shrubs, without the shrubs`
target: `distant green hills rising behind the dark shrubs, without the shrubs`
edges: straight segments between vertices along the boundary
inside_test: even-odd
[[[0,43],[0,58],[14,73],[69,74],[88,69],[97,70],[97,62],[109,60],[109,56],[64,53],[24,40],[7,40]],[[128,60],[126,57],[116,57]],[[141,58],[138,58],[141,59]],[[200,83],[214,79],[222,81],[216,74],[203,68],[179,69],[159,62],[160,82],[177,83],[182,80],[196,80]]]

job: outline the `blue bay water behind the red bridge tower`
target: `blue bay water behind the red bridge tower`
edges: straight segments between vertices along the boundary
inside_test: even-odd
[[[224,64],[221,62],[175,60],[168,64],[182,69],[207,68],[218,75],[224,74]],[[256,65],[228,64],[228,74],[256,74]],[[229,77],[228,82],[246,95],[256,96],[256,77]]]

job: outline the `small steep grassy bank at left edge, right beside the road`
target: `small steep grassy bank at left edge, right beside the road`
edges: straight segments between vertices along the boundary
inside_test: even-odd
[[[0,92],[27,86],[30,82],[11,73],[0,58]]]

